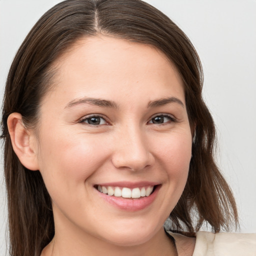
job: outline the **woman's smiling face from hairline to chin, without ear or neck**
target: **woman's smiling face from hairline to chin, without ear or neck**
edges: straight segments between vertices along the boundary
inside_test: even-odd
[[[56,67],[37,151],[56,235],[150,240],[177,203],[191,158],[177,71],[153,47],[110,37],[79,40]]]

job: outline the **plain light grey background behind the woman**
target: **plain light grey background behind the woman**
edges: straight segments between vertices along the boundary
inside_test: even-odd
[[[18,46],[37,19],[57,2],[60,0],[0,0],[1,97]],[[237,201],[240,231],[256,232],[256,0],[147,2],[180,26],[201,58],[204,98],[217,126],[218,164]],[[5,255],[2,165],[1,157],[0,255]]]

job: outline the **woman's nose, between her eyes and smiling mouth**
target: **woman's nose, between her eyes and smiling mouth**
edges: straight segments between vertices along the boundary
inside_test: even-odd
[[[116,168],[139,171],[153,165],[148,140],[139,127],[125,129],[115,139],[112,163]]]

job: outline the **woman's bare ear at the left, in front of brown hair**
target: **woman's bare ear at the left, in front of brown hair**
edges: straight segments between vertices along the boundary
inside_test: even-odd
[[[20,113],[11,113],[8,116],[7,125],[13,150],[20,162],[30,170],[38,170],[34,132],[24,126]]]

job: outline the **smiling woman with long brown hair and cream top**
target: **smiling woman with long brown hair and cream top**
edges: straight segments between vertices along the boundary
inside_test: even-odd
[[[203,223],[237,224],[201,86],[190,41],[142,1],[47,11],[5,87],[11,255],[198,255]]]

